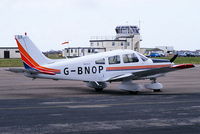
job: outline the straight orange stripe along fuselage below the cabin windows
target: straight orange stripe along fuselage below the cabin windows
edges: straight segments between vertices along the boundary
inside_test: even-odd
[[[124,70],[140,70],[151,68],[171,67],[171,64],[165,65],[146,65],[146,66],[122,66],[122,67],[107,67],[106,71],[124,71]]]

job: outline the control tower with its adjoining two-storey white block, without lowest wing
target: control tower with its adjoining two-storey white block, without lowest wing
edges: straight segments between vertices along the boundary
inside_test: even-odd
[[[91,47],[102,47],[106,51],[116,49],[131,49],[140,51],[140,33],[137,26],[117,26],[115,28],[116,36],[114,37],[92,37],[90,40]]]

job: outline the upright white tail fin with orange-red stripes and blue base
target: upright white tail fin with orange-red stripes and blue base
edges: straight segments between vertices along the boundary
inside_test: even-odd
[[[28,70],[35,70],[41,73],[56,74],[60,73],[58,69],[51,69],[42,65],[53,63],[54,61],[47,58],[29,39],[28,36],[15,36],[24,67]]]

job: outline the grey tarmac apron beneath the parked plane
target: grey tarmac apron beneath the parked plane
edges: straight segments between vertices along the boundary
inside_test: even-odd
[[[102,93],[79,81],[31,80],[0,68],[1,134],[199,134],[200,67],[158,81],[163,92]],[[147,83],[145,81],[137,81]]]

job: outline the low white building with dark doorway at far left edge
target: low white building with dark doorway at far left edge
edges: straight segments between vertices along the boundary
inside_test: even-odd
[[[0,47],[0,58],[20,58],[17,47]]]

